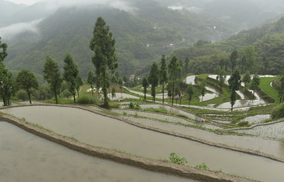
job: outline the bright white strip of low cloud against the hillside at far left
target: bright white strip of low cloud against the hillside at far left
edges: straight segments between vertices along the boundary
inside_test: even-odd
[[[21,33],[38,33],[37,25],[40,23],[40,21],[41,19],[32,22],[16,23],[0,28],[0,36],[5,40],[9,40]]]

